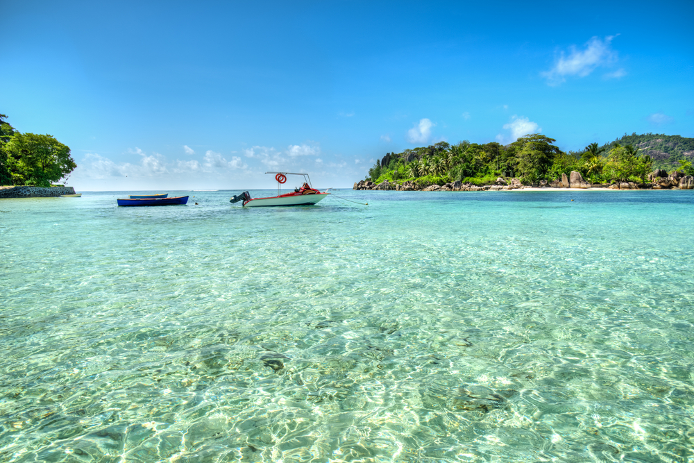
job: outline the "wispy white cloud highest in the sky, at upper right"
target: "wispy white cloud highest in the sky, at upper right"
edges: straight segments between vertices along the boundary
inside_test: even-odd
[[[583,50],[578,50],[572,45],[570,54],[566,56],[564,51],[561,51],[559,58],[555,60],[554,67],[549,71],[541,72],[541,76],[547,79],[549,85],[559,85],[566,81],[567,76],[585,77],[591,74],[596,67],[615,62],[617,53],[610,47],[614,37],[614,35],[610,35],[604,40],[593,37],[586,42],[586,47]]]

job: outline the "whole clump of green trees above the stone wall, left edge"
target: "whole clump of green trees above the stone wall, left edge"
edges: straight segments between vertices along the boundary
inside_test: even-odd
[[[77,167],[69,146],[52,135],[19,132],[6,119],[0,114],[0,186],[51,187],[67,180]]]

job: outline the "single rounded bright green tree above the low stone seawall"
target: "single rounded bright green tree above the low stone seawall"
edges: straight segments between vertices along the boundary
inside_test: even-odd
[[[77,167],[69,147],[51,135],[15,132],[5,148],[15,185],[49,187]]]

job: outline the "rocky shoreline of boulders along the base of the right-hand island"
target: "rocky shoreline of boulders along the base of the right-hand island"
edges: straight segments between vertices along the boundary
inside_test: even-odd
[[[523,188],[607,188],[609,190],[694,190],[694,176],[686,176],[675,171],[669,174],[666,171],[657,170],[648,175],[648,182],[619,182],[591,184],[583,179],[583,176],[572,171],[569,176],[561,175],[561,179],[548,182],[541,180],[533,185],[523,185],[518,178],[497,178],[492,185],[473,185],[462,183],[460,180],[446,183],[445,185],[423,185],[412,180],[389,182],[384,180],[378,185],[371,180],[360,180],[354,184],[352,190],[396,190],[396,191],[423,191],[423,192],[483,192],[500,190],[521,190]]]

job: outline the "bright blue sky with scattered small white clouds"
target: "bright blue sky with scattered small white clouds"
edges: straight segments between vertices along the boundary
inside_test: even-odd
[[[0,114],[70,147],[77,191],[352,187],[440,141],[694,137],[693,22],[691,0],[0,0]]]

